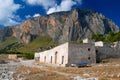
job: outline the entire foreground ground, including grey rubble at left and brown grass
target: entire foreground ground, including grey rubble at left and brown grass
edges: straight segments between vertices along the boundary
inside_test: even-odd
[[[119,80],[120,59],[91,67],[56,67],[34,60],[0,64],[0,80]]]

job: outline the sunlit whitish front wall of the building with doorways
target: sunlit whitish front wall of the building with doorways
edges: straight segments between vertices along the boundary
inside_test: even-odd
[[[68,43],[62,44],[51,50],[40,52],[39,61],[42,63],[66,66],[68,63]]]

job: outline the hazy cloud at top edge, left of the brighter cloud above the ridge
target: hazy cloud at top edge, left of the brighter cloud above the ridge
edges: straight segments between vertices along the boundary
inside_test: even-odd
[[[30,5],[40,5],[43,6],[46,10],[49,7],[54,6],[54,4],[56,3],[55,0],[24,0],[26,3],[30,4]]]

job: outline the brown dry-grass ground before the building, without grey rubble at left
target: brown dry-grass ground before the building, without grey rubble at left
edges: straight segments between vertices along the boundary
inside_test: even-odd
[[[82,80],[75,79],[80,76],[87,78],[97,78],[99,80],[120,80],[120,59],[106,59],[103,63],[90,67],[56,67],[46,64],[33,64],[34,61],[23,61],[24,66],[14,74],[16,80]],[[86,78],[86,79],[85,79]],[[97,80],[92,79],[92,80]]]

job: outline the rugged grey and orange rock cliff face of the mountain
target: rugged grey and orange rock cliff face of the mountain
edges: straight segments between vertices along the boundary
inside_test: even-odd
[[[73,9],[27,20],[12,28],[12,35],[24,43],[45,35],[64,43],[90,37],[92,34],[107,34],[109,31],[117,32],[119,28],[102,14],[92,10]]]

